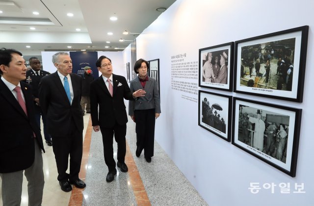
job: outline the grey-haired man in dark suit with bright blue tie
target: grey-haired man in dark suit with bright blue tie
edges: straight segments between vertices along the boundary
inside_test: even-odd
[[[39,102],[52,136],[59,184],[63,191],[69,192],[70,184],[78,188],[86,186],[78,178],[83,149],[82,78],[72,74],[72,60],[67,52],[55,53],[52,62],[57,72],[41,79]],[[70,174],[67,174],[69,155]]]

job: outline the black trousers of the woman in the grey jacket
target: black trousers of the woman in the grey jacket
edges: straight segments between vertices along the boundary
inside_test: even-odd
[[[154,156],[155,109],[134,110],[136,146],[145,157]]]

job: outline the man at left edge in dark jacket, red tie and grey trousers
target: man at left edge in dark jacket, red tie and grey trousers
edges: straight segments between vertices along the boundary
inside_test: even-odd
[[[27,68],[22,53],[0,50],[0,177],[3,206],[21,205],[23,172],[28,205],[40,206],[44,172],[42,136],[34,116],[31,86],[24,82]]]

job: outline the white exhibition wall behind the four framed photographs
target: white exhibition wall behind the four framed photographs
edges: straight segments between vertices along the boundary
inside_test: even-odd
[[[136,38],[137,59],[160,59],[161,115],[156,140],[210,206],[314,205],[314,1],[177,0]],[[296,177],[292,178],[198,126],[196,94],[171,88],[173,56],[197,62],[201,48],[298,26],[310,26],[303,103],[198,88],[245,99],[302,108]],[[126,61],[126,59],[124,59]],[[126,62],[124,62],[126,64]],[[198,79],[183,79],[198,83]],[[185,97],[184,97],[185,96]],[[250,182],[275,183],[252,194]],[[279,183],[290,183],[281,194]],[[293,193],[304,183],[306,193]]]

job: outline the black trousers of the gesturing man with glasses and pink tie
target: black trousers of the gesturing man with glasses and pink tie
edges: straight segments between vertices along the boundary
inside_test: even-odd
[[[112,128],[100,128],[103,135],[104,157],[109,172],[116,170],[116,162],[113,158],[113,135],[118,144],[117,159],[124,162],[126,156],[126,134],[127,125],[116,123]]]

